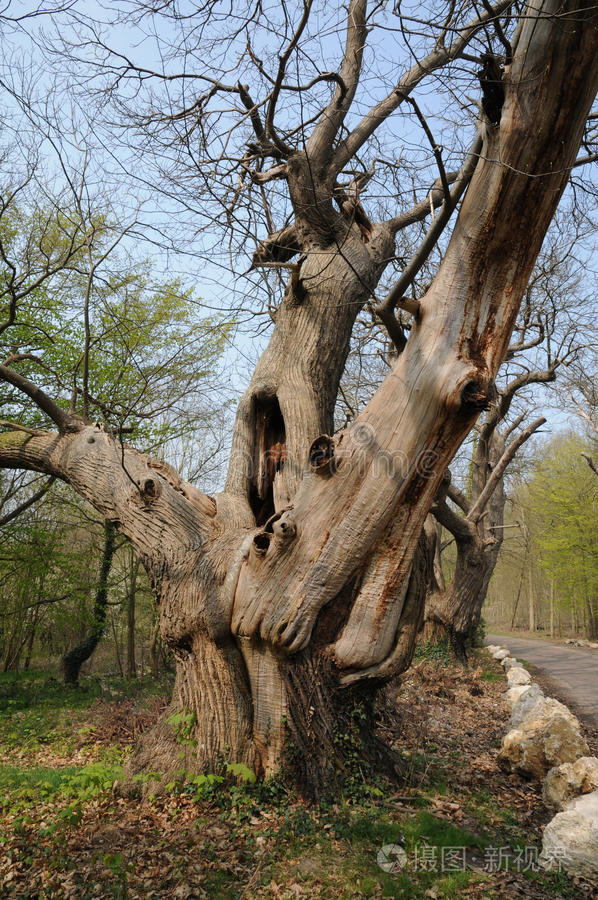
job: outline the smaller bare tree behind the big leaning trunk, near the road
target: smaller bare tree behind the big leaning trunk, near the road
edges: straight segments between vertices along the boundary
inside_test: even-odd
[[[449,540],[429,523],[436,565],[423,638],[448,637],[459,652],[473,637],[503,543],[507,467],[546,422],[540,416],[522,427],[539,400],[533,389],[564,374],[561,390],[566,390],[570,372],[588,356],[595,285],[585,265],[584,229],[571,212],[557,217],[530,278],[496,397],[474,429],[465,483],[459,489],[449,475],[432,507]],[[439,550],[450,545],[450,538],[456,557],[445,584]]]

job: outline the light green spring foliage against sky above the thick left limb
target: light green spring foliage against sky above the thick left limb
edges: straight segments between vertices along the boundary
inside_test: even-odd
[[[19,299],[0,352],[31,354],[16,368],[59,405],[67,407],[74,396],[76,411],[87,402],[90,417],[117,431],[126,424],[128,440],[156,448],[205,426],[211,414],[206,382],[231,325],[201,316],[194,292],[180,279],[157,278],[148,260],[111,249],[115,235],[118,224],[101,212],[86,221],[76,211],[4,212],[0,239],[17,272]],[[0,260],[0,285],[11,274]],[[18,395],[6,409],[24,424],[40,420],[39,410]]]

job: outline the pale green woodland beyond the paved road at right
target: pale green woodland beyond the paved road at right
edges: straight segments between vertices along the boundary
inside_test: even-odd
[[[563,431],[511,486],[483,610],[489,630],[598,639],[598,480],[587,431]]]

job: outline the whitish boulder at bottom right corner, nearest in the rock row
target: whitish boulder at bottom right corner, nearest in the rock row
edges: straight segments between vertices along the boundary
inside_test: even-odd
[[[540,863],[569,875],[598,878],[598,791],[571,800],[544,829]]]

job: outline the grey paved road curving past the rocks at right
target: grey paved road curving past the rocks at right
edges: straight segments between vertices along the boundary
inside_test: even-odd
[[[598,650],[497,634],[489,634],[487,641],[508,647],[511,656],[541,669],[559,689],[559,699],[598,728]]]

